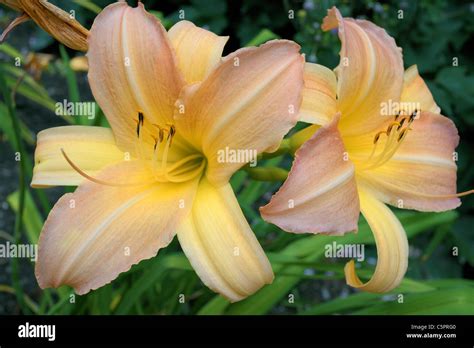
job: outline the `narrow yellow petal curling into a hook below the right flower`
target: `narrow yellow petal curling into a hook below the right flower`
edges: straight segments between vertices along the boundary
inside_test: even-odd
[[[408,240],[405,230],[390,209],[373,194],[359,189],[360,209],[375,237],[377,266],[372,278],[362,283],[355,271],[354,260],[344,268],[347,284],[360,290],[384,293],[396,288],[408,267]]]

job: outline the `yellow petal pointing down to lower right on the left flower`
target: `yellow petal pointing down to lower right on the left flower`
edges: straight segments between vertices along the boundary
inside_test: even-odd
[[[232,302],[273,280],[270,262],[229,184],[216,188],[203,179],[192,214],[177,234],[202,281]]]

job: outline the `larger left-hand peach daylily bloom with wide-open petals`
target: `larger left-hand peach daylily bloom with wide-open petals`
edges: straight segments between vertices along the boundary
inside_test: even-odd
[[[278,147],[297,121],[304,58],[285,40],[222,58],[226,41],[187,21],[167,33],[141,3],[112,4],[95,19],[88,77],[112,129],[38,134],[32,185],[79,185],[41,233],[42,288],[85,294],[175,234],[202,281],[231,301],[272,282],[228,182],[245,163],[218,153]]]

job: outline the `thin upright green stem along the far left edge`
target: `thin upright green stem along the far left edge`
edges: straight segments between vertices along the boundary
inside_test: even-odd
[[[23,223],[23,211],[25,209],[25,174],[26,174],[26,165],[25,160],[22,158],[23,154],[25,154],[25,149],[23,146],[23,141],[21,139],[21,128],[18,119],[15,116],[15,108],[14,108],[14,101],[12,99],[12,95],[9,93],[9,90],[6,85],[6,81],[3,75],[0,74],[0,88],[2,89],[3,99],[5,100],[5,104],[7,106],[8,114],[10,116],[12,126],[13,126],[13,133],[15,134],[15,143],[17,151],[20,153],[20,173],[18,177],[18,192],[19,192],[19,204],[18,204],[18,213],[15,219],[15,227],[13,238],[15,240],[15,244],[19,244],[21,241],[21,229]],[[19,276],[19,264],[18,258],[12,258],[12,285],[15,289],[15,295],[18,301],[18,305],[23,313],[29,313],[28,307],[25,305],[24,301],[24,294],[23,289],[21,288],[20,284],[20,276]]]

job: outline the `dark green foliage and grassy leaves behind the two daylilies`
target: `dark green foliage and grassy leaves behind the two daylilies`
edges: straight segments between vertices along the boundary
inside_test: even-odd
[[[51,1],[90,27],[101,8],[111,1]],[[367,18],[384,27],[403,48],[406,67],[417,64],[444,115],[456,123],[461,144],[458,190],[474,187],[474,3],[455,1],[262,1],[262,0],[145,0],[148,10],[169,28],[178,21],[180,10],[186,19],[218,34],[230,35],[229,53],[239,47],[258,45],[269,39],[292,39],[302,46],[306,58],[329,67],[338,62],[339,41],[333,32],[323,33],[320,23],[326,10],[337,5],[343,15]],[[133,4],[133,1],[129,3]],[[403,18],[400,19],[400,11]],[[0,9],[0,25],[6,27],[15,13]],[[290,18],[289,18],[290,17]],[[35,80],[15,57],[25,61],[30,52],[54,55]],[[64,124],[106,125],[101,113],[95,120],[59,118],[56,101],[92,100],[86,74],[76,73],[68,61],[77,55],[55,42],[32,23],[16,28],[7,43],[0,45],[0,242],[36,243],[51,206],[64,188],[21,190],[19,163],[22,152],[25,180],[31,179],[35,134],[44,128]],[[457,61],[453,65],[453,62]],[[10,93],[20,76],[16,104]],[[65,88],[64,86],[67,86]],[[10,121],[16,117],[17,128]],[[16,135],[21,135],[18,143]],[[22,149],[24,148],[24,149]],[[263,165],[289,168],[291,159],[278,157]],[[258,207],[268,201],[278,184],[249,180],[245,171],[232,178],[241,207],[274,271],[275,281],[252,297],[229,304],[200,282],[175,240],[153,259],[143,261],[111,284],[85,296],[72,290],[42,291],[38,288],[33,263],[0,259],[0,314],[474,314],[474,197],[463,199],[456,211],[418,213],[396,211],[409,236],[409,270],[401,286],[390,294],[357,292],[345,285],[345,260],[324,258],[324,245],[365,243],[369,256],[360,269],[368,279],[373,272],[376,249],[365,221],[359,233],[344,237],[293,235],[264,223]],[[427,178],[429,179],[429,178]],[[66,188],[71,191],[73,188]],[[23,228],[15,234],[14,224],[24,192]],[[453,248],[459,254],[453,256]],[[403,303],[400,303],[403,294]],[[185,303],[180,303],[180,295]],[[293,301],[294,299],[294,301]]]

